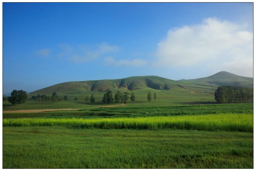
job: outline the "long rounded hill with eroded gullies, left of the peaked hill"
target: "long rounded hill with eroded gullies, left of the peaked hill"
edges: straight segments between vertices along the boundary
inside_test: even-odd
[[[176,86],[176,81],[158,76],[134,76],[113,80],[95,81],[72,81],[55,84],[41,90],[36,90],[32,94],[50,94],[52,92],[81,93],[86,91],[104,92],[123,88],[126,90],[138,90],[152,88],[156,90],[169,90]]]

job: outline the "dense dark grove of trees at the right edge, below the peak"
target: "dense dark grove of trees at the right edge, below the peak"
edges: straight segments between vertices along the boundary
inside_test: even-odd
[[[215,90],[217,103],[248,103],[253,102],[253,88],[221,86]]]

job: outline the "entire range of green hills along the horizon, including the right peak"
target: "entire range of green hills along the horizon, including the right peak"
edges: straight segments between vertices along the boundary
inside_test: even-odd
[[[155,90],[172,90],[172,88],[185,87],[218,87],[222,85],[253,87],[253,78],[237,76],[232,73],[221,71],[205,78],[189,80],[171,80],[159,76],[132,76],[128,78],[112,80],[90,80],[90,81],[71,81],[55,84],[41,90],[36,90],[32,94],[51,94],[61,92],[76,94],[86,91],[104,92],[107,90],[139,90],[151,88]]]

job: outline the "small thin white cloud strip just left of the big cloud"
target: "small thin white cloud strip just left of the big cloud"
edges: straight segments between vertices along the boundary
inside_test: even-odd
[[[105,58],[105,62],[106,64],[109,64],[109,65],[113,64],[115,66],[135,66],[135,67],[143,66],[147,64],[147,62],[143,59],[133,59],[133,60],[121,59],[116,61],[113,57]]]

